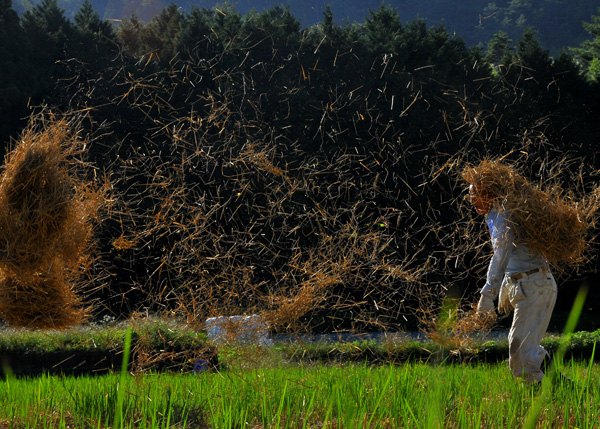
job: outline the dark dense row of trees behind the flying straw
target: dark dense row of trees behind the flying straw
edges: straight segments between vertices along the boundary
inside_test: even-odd
[[[242,15],[227,4],[189,12],[173,4],[148,23],[130,15],[115,31],[88,0],[72,21],[56,0],[21,21],[3,1],[2,141],[28,104],[89,115],[88,131],[99,134],[90,161],[123,205],[101,233],[115,279],[108,296],[118,297],[109,306],[210,275],[220,280],[215,294],[243,279],[290,287],[282,270],[320,255],[310,263],[348,263],[332,296],[353,295],[372,314],[403,299],[401,280],[373,255],[402,266],[400,253],[410,253],[432,284],[460,274],[469,257],[447,241],[457,225],[443,213],[460,190],[436,173],[441,166],[569,153],[598,168],[600,94],[585,76],[597,55],[591,44],[582,47],[588,56],[578,51],[585,70],[566,53],[552,57],[526,25],[525,3],[490,3],[502,10],[490,9],[486,22],[522,30],[506,24],[469,47],[449,27],[403,22],[386,5],[344,25],[327,8],[303,29],[290,8]],[[186,222],[199,218],[204,229],[189,239]],[[135,244],[115,244],[127,236]],[[370,237],[387,241],[371,249]],[[318,253],[349,242],[365,246],[349,262]],[[366,283],[381,288],[367,293]]]

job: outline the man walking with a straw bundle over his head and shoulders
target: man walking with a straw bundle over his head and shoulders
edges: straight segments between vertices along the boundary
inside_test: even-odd
[[[541,382],[548,352],[540,345],[557,296],[551,263],[580,262],[587,224],[581,205],[535,188],[499,161],[466,167],[462,178],[476,212],[485,215],[493,255],[477,305],[483,317],[514,310],[508,334],[514,376]]]

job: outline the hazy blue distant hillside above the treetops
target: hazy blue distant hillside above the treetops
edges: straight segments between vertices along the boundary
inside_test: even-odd
[[[13,0],[13,8],[22,14],[41,0]],[[67,17],[72,17],[83,0],[58,0]],[[91,0],[104,19],[120,20],[135,13],[142,21],[175,3],[182,11],[190,8],[213,8],[221,1],[215,0]],[[388,0],[404,21],[426,19],[429,25],[443,22],[452,32],[470,45],[485,45],[502,30],[516,41],[526,27],[537,31],[542,46],[557,54],[568,46],[579,46],[589,38],[581,23],[600,14],[600,0]],[[252,9],[262,11],[278,4],[287,4],[305,27],[322,21],[327,4],[339,24],[364,22],[370,10],[376,10],[381,0],[238,0],[232,1],[237,10],[245,14]]]

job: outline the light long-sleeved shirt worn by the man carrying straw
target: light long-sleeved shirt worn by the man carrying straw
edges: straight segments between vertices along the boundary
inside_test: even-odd
[[[500,211],[497,207],[486,215],[494,254],[481,293],[492,299],[498,296],[505,275],[523,273],[548,264],[542,255],[532,252],[525,243],[517,241],[507,216],[509,214],[506,210]]]

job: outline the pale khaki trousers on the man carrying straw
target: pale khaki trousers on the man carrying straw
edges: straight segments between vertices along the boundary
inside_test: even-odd
[[[517,281],[504,278],[508,299],[515,310],[508,333],[509,366],[516,377],[535,382],[544,373],[541,364],[548,352],[540,345],[556,303],[556,281],[547,270]]]

